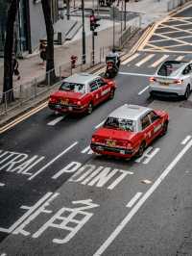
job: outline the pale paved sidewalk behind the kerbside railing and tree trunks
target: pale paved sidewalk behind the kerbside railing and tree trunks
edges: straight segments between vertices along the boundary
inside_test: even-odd
[[[159,20],[167,15],[167,3],[169,0],[140,0],[138,2],[133,2],[132,0],[127,3],[127,12],[140,13],[141,15],[141,27],[146,28],[152,22]],[[86,1],[84,3],[84,8],[92,8],[92,1]],[[119,9],[121,10],[121,2],[119,4]],[[71,17],[72,19],[81,19],[81,17]],[[135,22],[134,18],[127,22],[127,26]],[[108,53],[108,47],[113,43],[113,22],[111,20],[100,20],[101,26],[97,29],[98,36],[95,37],[95,50],[96,50],[96,62],[98,63],[99,58],[101,58],[101,48],[105,48],[105,54]],[[121,24],[120,22],[115,22],[115,41],[118,40]],[[89,29],[89,18],[84,20],[84,29],[86,36],[86,61],[91,61],[91,51],[92,51],[92,37]],[[104,53],[103,53],[104,54]],[[82,30],[80,30],[77,35],[70,41],[65,41],[61,46],[55,46],[55,66],[60,64],[70,64],[70,56],[77,55],[78,60],[82,61]],[[23,60],[19,60],[19,70],[21,73],[21,79],[19,81],[13,80],[13,87],[19,87],[20,85],[30,83],[34,78],[44,77],[45,69],[39,65],[40,58],[38,54],[29,55]],[[3,90],[3,64],[0,62],[0,92]],[[42,99],[41,99],[42,100]],[[24,105],[21,106],[21,112],[24,109]],[[0,126],[8,121],[9,115],[0,115]],[[15,114],[16,115],[16,114]],[[18,115],[18,114],[17,114]]]

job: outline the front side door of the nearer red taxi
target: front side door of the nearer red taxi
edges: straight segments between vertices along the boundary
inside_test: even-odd
[[[162,131],[162,119],[159,115],[156,115],[154,111],[151,111],[148,114],[148,116],[153,126],[152,138],[151,138],[153,141],[154,139],[156,139],[157,136],[159,136],[159,134]]]

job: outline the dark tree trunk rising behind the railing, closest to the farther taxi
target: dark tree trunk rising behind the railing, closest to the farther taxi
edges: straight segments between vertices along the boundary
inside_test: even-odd
[[[51,0],[41,0],[42,11],[45,20],[45,27],[47,33],[47,51],[46,51],[46,84],[52,85],[56,79],[55,65],[54,65],[54,28],[51,17]]]

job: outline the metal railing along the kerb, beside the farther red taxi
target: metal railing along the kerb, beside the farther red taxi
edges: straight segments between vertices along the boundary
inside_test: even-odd
[[[101,47],[94,54],[95,64],[105,63],[106,55],[110,46]],[[0,93],[0,116],[7,115],[12,110],[24,106],[26,102],[36,99],[39,95],[45,95],[53,89],[59,87],[60,81],[72,75],[73,73],[84,72],[88,68],[92,67],[92,56],[86,56],[86,64],[83,64],[83,60],[78,60],[75,68],[72,68],[71,62],[60,64],[55,67],[56,80],[53,85],[51,85],[51,75],[53,70],[46,72],[45,74],[32,79],[30,82],[21,84],[19,86],[13,87],[12,90],[8,90],[4,93]],[[13,95],[13,101],[10,100]]]

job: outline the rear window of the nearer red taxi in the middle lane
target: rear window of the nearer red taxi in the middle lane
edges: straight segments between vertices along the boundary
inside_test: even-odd
[[[108,119],[104,123],[104,127],[122,131],[134,131],[133,121],[124,118],[108,117]]]

